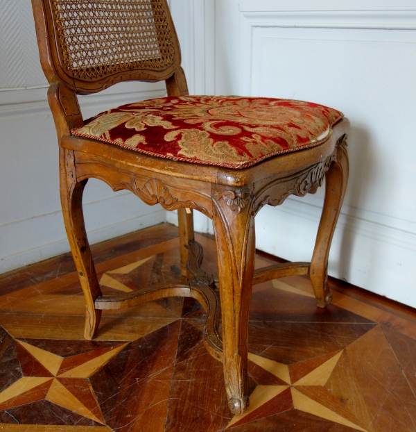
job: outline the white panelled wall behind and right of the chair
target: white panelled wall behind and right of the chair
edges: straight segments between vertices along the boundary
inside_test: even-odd
[[[227,8],[239,17],[239,27],[229,27],[239,40],[222,47],[227,60],[217,55],[216,76],[234,74],[230,90],[315,101],[352,122],[329,273],[416,306],[415,3],[242,0]],[[257,247],[309,260],[323,192],[263,208]]]

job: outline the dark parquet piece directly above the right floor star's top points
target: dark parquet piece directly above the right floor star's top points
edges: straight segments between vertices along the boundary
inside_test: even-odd
[[[376,324],[250,322],[253,354],[291,365],[347,347]]]

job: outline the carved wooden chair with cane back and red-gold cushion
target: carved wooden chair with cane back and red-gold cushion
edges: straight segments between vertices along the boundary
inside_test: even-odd
[[[327,263],[347,185],[348,120],[313,103],[187,97],[165,0],[32,2],[58,133],[64,222],[87,304],[85,338],[94,338],[103,309],[193,297],[207,313],[205,346],[223,362],[229,408],[243,413],[252,285],[309,274],[318,306],[331,301]],[[83,120],[77,94],[131,80],[165,80],[168,97]],[[83,190],[92,177],[113,190],[130,190],[149,205],[178,210],[181,271],[187,280],[102,295],[82,209]],[[324,208],[311,263],[254,270],[254,216],[260,208],[277,206],[290,194],[314,193],[324,178]],[[193,239],[192,209],[213,221],[218,281],[200,269],[202,249]]]

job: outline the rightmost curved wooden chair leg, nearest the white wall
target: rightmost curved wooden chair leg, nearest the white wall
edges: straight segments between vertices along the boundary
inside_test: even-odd
[[[337,160],[329,167],[325,176],[324,208],[322,209],[315,249],[313,249],[311,266],[309,267],[313,291],[320,308],[327,306],[332,299],[332,294],[328,288],[328,257],[347,188],[349,164],[346,145],[346,135],[344,135],[338,142]]]

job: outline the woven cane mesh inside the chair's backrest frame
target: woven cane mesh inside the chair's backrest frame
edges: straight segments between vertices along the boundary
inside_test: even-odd
[[[166,69],[175,49],[162,0],[53,0],[64,65],[77,78]]]

